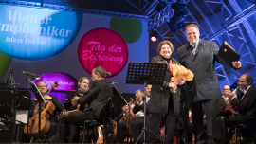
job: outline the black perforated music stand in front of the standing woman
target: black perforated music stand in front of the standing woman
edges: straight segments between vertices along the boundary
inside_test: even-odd
[[[144,142],[146,142],[146,132],[151,133],[161,142],[163,142],[157,135],[152,133],[151,131],[146,128],[146,86],[147,84],[151,85],[163,85],[163,80],[165,77],[165,72],[167,69],[167,65],[165,63],[129,63],[126,81],[127,84],[144,84],[144,126],[142,132],[137,138],[136,144],[144,134]],[[164,142],[163,142],[164,143]]]

